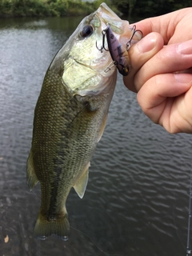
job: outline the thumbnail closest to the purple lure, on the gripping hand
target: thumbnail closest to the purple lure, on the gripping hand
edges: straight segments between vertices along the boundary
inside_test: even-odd
[[[156,41],[157,39],[155,34],[147,34],[146,37],[142,38],[142,40],[138,42],[138,50],[142,54],[153,50]]]

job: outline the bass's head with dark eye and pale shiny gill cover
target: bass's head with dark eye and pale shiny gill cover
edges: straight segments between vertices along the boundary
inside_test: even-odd
[[[128,24],[102,3],[98,10],[82,19],[51,63],[50,69],[58,70],[71,94],[98,95],[114,90],[117,69],[113,65],[109,68],[113,60],[106,41],[106,50],[99,50],[103,46],[102,31],[109,23],[118,38]]]

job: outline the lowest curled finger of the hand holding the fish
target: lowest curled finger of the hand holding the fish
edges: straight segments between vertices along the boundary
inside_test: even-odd
[[[138,103],[153,122],[164,126],[171,133],[181,132],[184,130],[178,127],[190,119],[186,115],[192,107],[189,100],[191,87],[192,74],[157,74],[138,91]]]

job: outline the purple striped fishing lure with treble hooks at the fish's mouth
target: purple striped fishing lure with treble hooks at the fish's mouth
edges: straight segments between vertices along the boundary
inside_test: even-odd
[[[141,30],[136,30],[135,25],[133,26],[132,30],[133,34],[131,35],[130,40],[126,43],[126,50],[125,47],[123,47],[122,44],[118,41],[118,38],[115,37],[113,31],[110,29],[110,24],[106,26],[105,30],[102,30],[102,46],[99,49],[96,42],[96,47],[101,52],[103,50],[108,50],[105,46],[105,41],[107,40],[110,55],[113,60],[113,62],[111,62],[111,65],[106,68],[105,72],[108,72],[113,66],[116,66],[118,68],[118,72],[123,76],[129,74],[130,58],[128,50],[130,49],[131,41],[134,38],[134,34],[136,32],[140,32],[142,34]]]

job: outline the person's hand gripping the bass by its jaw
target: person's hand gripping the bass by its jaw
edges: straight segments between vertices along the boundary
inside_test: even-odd
[[[186,8],[136,23],[144,38],[130,48],[123,78],[143,112],[170,133],[192,133],[191,22]]]

